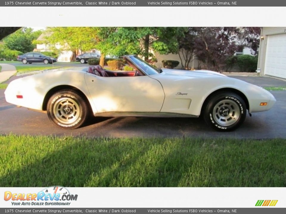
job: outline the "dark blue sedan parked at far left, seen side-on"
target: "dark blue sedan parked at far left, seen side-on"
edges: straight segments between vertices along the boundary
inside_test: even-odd
[[[52,64],[53,62],[57,62],[57,59],[52,56],[45,56],[41,53],[30,52],[18,56],[17,61],[23,62],[24,64],[31,64],[32,62],[43,62],[44,64]]]

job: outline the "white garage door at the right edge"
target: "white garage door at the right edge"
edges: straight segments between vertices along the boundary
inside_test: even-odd
[[[286,34],[268,36],[264,73],[286,79]]]

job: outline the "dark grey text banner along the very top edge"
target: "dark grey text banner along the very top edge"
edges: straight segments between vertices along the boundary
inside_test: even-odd
[[[86,0],[18,0],[0,1],[0,7],[284,7],[281,0],[237,0],[237,1],[190,1],[190,0],[130,0],[130,1],[86,1]]]

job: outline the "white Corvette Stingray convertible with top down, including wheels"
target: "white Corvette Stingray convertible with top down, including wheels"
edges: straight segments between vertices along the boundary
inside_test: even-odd
[[[133,71],[100,65],[57,69],[12,81],[8,103],[47,111],[64,129],[78,128],[92,114],[100,117],[199,117],[221,131],[234,130],[249,114],[276,102],[259,86],[213,71],[152,67],[137,56],[124,57]],[[90,114],[91,113],[91,114]]]

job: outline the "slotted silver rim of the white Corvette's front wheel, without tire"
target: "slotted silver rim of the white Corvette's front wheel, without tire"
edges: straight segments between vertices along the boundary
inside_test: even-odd
[[[237,122],[240,116],[240,108],[233,100],[221,100],[213,109],[213,119],[219,125],[230,126]]]

